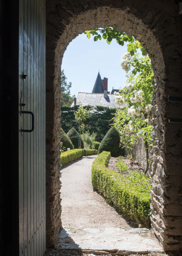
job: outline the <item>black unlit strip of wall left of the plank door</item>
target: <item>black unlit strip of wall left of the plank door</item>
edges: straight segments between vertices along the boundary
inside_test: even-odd
[[[18,1],[0,0],[0,255],[18,255]]]

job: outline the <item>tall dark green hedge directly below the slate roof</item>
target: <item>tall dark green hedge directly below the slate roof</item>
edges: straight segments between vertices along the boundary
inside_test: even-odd
[[[78,122],[74,118],[74,113],[77,111],[78,107],[78,105],[73,107],[61,107],[61,126],[66,133],[72,127],[78,131]],[[85,106],[83,108],[89,109],[90,106]],[[97,134],[96,140],[101,142],[109,128],[111,128],[111,123],[113,122],[112,118],[115,112],[115,108],[102,106],[94,107],[93,112],[89,112],[88,118],[84,121],[85,131],[89,131],[90,134],[95,132]]]

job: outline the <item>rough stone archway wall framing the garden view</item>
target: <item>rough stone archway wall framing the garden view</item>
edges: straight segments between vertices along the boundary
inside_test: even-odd
[[[168,95],[182,96],[182,56],[179,6],[160,1],[47,1],[46,40],[46,218],[47,245],[61,228],[60,206],[60,72],[69,42],[85,29],[113,26],[133,35],[147,50],[154,69],[154,147],[152,157],[152,228],[165,250],[181,249],[182,194],[180,183],[180,124],[168,117],[182,116]],[[174,40],[175,38],[175,40]],[[176,95],[177,94],[177,95]]]

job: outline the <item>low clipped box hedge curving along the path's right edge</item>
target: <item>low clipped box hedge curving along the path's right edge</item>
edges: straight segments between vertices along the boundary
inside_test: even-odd
[[[134,187],[123,175],[106,168],[110,156],[110,152],[103,151],[92,164],[91,177],[94,189],[129,219],[150,227],[150,195],[138,191],[137,186]]]

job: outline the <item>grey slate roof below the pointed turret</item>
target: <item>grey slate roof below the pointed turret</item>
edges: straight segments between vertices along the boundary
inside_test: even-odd
[[[108,108],[118,108],[119,106],[116,104],[114,94],[108,94],[106,98],[104,98],[103,93],[78,93],[77,94],[77,105],[81,104],[82,106],[102,106]],[[74,106],[74,102],[71,107]]]

